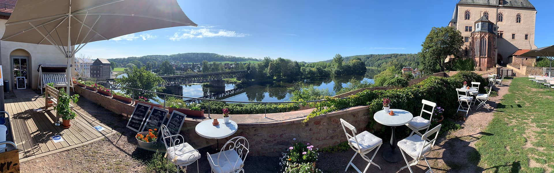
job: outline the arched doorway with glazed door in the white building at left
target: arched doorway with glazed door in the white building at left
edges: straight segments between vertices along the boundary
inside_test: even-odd
[[[9,53],[10,64],[12,67],[12,88],[31,88],[31,65],[30,65],[30,54],[27,50],[16,49]],[[17,80],[24,82],[24,85],[18,87]]]

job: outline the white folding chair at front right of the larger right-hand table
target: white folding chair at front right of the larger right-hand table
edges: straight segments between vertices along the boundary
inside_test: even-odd
[[[433,172],[433,169],[429,165],[429,162],[427,161],[427,155],[429,155],[431,152],[431,149],[433,149],[433,146],[435,146],[435,141],[437,141],[437,136],[439,136],[439,130],[440,126],[442,124],[437,125],[435,128],[427,131],[427,133],[423,134],[422,136],[419,135],[412,135],[408,138],[405,138],[401,141],[398,141],[398,148],[402,152],[402,156],[404,157],[404,161],[406,161],[407,166],[401,167],[401,171],[403,169],[406,169],[406,167],[410,170],[410,172],[413,173],[412,167],[413,165],[417,165],[419,160],[425,160],[427,163],[427,166],[429,167],[429,171]],[[432,140],[429,140],[429,136],[435,134],[435,138]],[[408,159],[406,158],[406,154],[408,156],[412,157],[411,162],[408,162]],[[429,172],[427,171],[427,172]]]

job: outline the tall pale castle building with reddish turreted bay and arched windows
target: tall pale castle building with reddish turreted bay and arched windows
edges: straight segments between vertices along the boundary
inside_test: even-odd
[[[528,0],[460,0],[448,26],[464,37],[460,55],[478,70],[511,63],[520,49],[536,49],[535,7]]]

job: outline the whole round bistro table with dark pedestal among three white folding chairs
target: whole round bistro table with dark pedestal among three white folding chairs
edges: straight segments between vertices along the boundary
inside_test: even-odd
[[[385,113],[384,110],[379,110],[375,114],[373,114],[373,119],[375,119],[375,121],[377,121],[377,123],[379,124],[391,126],[391,148],[383,151],[383,159],[391,163],[396,163],[402,160],[402,155],[399,149],[397,149],[396,147],[396,143],[398,143],[398,141],[396,140],[396,136],[394,135],[394,129],[396,129],[396,126],[408,124],[410,121],[412,121],[412,118],[414,118],[414,116],[412,115],[412,113],[406,110],[390,110],[394,111],[394,115],[388,115],[388,113]]]

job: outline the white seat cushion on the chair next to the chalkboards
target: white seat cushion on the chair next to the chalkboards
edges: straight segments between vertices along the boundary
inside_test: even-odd
[[[200,159],[200,153],[193,151],[194,148],[188,143],[171,146],[167,149],[170,160],[177,165],[186,165]],[[189,152],[192,151],[192,152]],[[188,153],[187,153],[188,152]],[[183,154],[186,153],[186,154]],[[177,156],[177,158],[176,158]]]

